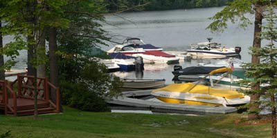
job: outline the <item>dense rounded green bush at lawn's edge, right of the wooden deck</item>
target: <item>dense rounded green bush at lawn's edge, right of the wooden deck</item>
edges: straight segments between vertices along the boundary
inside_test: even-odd
[[[64,59],[69,60],[69,59]],[[66,77],[61,79],[60,88],[62,91],[62,99],[64,105],[69,105],[80,110],[89,111],[108,111],[105,99],[116,97],[120,94],[119,86],[122,86],[119,78],[116,77],[111,80],[111,76],[107,74],[107,68],[96,61],[85,61],[82,64],[66,62],[67,66],[79,66],[75,70],[73,77]],[[68,65],[67,63],[72,63]],[[62,70],[71,70],[64,65]],[[75,78],[76,77],[76,78]],[[70,79],[69,79],[70,78]]]

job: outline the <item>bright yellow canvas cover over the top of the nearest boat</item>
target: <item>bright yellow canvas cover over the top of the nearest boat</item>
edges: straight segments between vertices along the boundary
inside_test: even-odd
[[[195,94],[207,94],[216,97],[225,97],[226,99],[243,98],[244,94],[235,90],[226,90],[221,88],[211,88],[195,83],[172,83],[169,86],[153,90],[152,92],[189,92]]]

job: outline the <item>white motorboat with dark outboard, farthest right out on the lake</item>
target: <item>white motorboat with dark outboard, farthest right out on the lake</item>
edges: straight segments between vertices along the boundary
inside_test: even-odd
[[[211,39],[208,38],[206,42],[192,44],[190,50],[186,50],[187,55],[190,55],[193,59],[240,57],[240,47],[225,48],[221,46],[221,43],[211,42]]]

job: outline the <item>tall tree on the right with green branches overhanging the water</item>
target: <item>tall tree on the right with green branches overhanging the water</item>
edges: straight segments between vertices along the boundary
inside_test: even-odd
[[[250,19],[246,17],[248,13],[255,14],[254,22],[254,35],[253,35],[253,48],[260,48],[260,35],[261,35],[261,26],[263,19],[263,12],[265,11],[265,6],[268,6],[270,1],[267,0],[235,0],[226,6],[222,11],[217,12],[215,16],[211,17],[213,23],[211,23],[207,28],[212,31],[223,32],[224,28],[227,28],[227,22],[231,21],[235,23],[236,21],[241,21],[240,26],[242,28],[247,27],[251,24]],[[260,63],[260,59],[256,55],[252,55],[252,63]],[[252,83],[251,89],[258,90],[259,86],[255,83]],[[258,101],[260,96],[258,93],[251,95],[251,107],[249,110],[249,118],[257,118],[258,112]]]

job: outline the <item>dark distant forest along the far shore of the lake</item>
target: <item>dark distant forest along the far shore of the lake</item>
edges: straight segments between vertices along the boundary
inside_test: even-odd
[[[233,0],[107,0],[110,12],[139,6],[133,10],[173,10],[226,6]],[[145,3],[145,6],[141,6]]]

